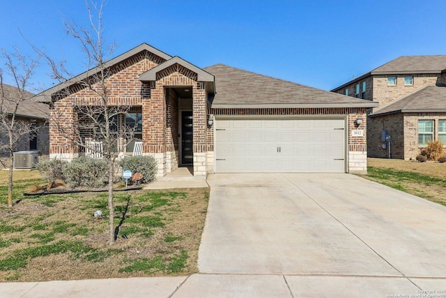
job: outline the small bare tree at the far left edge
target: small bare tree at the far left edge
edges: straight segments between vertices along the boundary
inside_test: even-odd
[[[33,94],[26,91],[30,87],[33,70],[38,65],[38,58],[25,57],[15,47],[13,52],[0,50],[3,60],[0,66],[0,134],[6,136],[7,141],[0,144],[0,149],[8,151],[10,157],[8,176],[8,207],[13,207],[13,165],[14,151],[17,143],[36,133],[38,127],[31,121],[23,119],[20,108],[26,101],[32,101]],[[13,86],[3,83],[5,77],[10,77]],[[4,139],[3,139],[4,140]]]

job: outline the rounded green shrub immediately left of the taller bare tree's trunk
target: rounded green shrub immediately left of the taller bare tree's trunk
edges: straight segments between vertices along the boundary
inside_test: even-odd
[[[102,187],[108,183],[109,165],[105,159],[79,157],[63,169],[70,187]]]

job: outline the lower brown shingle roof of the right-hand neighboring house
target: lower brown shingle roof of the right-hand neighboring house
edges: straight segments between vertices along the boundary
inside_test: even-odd
[[[426,86],[385,107],[380,108],[370,117],[396,113],[446,112],[446,87]]]

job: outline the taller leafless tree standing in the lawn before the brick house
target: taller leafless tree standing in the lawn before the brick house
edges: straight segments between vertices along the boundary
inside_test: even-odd
[[[87,2],[86,8],[89,10],[89,28],[80,27],[75,22],[65,23],[66,32],[80,43],[86,55],[86,73],[73,77],[63,63],[56,63],[47,54],[40,53],[49,61],[52,76],[61,82],[61,88],[52,94],[51,129],[65,138],[68,147],[78,148],[77,153],[85,151],[86,155],[90,153],[108,162],[109,244],[112,245],[117,234],[113,202],[116,158],[132,141],[136,127],[125,125],[124,117],[130,106],[117,103],[111,96],[114,87],[107,83],[107,78],[116,69],[106,61],[114,46],[107,47],[103,39],[104,2],[100,5]],[[77,94],[79,91],[84,92],[84,96]],[[66,121],[68,117],[71,117],[70,121]]]

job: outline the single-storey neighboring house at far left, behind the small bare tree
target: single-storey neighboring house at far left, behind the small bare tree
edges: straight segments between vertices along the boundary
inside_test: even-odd
[[[10,86],[8,84],[2,84],[0,92],[3,91],[4,107],[8,114],[14,110],[13,103],[8,103],[8,98],[14,100],[17,97],[17,87]],[[33,150],[39,151],[40,154],[49,154],[49,131],[48,131],[48,113],[49,107],[45,103],[38,103],[34,98],[34,94],[26,91],[26,96],[29,99],[20,103],[17,112],[15,114],[16,121],[29,121],[32,126],[38,128],[37,133],[31,133],[30,135],[24,135],[15,147],[15,151]],[[9,144],[8,135],[6,133],[0,133],[0,144]],[[8,156],[9,153],[6,149],[0,151],[0,156]]]

